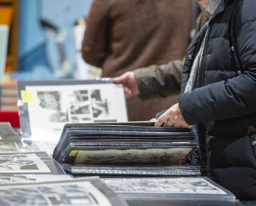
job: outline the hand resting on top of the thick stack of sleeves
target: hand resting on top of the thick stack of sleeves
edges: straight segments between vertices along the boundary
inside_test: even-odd
[[[172,106],[169,110],[164,112],[155,124],[155,127],[160,127],[164,123],[164,127],[189,127],[183,118],[178,104]]]

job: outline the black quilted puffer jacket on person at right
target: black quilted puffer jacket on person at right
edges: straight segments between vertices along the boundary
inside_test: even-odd
[[[196,89],[184,93],[203,28],[187,50],[179,108],[197,124],[205,176],[256,200],[256,0],[222,0],[206,37]]]

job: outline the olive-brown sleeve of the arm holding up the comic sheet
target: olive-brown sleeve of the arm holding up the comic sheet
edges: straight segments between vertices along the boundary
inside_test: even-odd
[[[160,66],[152,65],[134,70],[141,100],[167,97],[180,92],[184,60],[175,60]]]

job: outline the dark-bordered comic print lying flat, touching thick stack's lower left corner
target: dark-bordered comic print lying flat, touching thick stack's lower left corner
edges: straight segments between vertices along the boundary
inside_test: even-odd
[[[65,175],[46,152],[0,153],[0,175]]]

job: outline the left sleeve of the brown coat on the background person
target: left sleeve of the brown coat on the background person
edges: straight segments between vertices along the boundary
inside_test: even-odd
[[[83,59],[97,67],[102,67],[107,53],[108,2],[93,1],[82,43]]]

